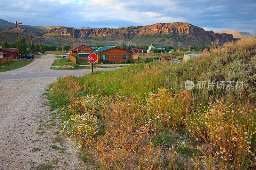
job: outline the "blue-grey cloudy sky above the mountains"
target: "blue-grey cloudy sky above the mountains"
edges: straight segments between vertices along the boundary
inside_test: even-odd
[[[206,31],[256,29],[256,0],[0,0],[0,12],[27,25],[124,27],[183,22]],[[13,21],[0,14],[0,18]]]

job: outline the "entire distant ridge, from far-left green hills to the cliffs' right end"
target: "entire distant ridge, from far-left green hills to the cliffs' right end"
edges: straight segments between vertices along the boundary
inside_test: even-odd
[[[4,20],[0,20],[0,30],[16,32],[16,28]],[[1,26],[5,24],[6,26]],[[28,26],[19,25],[20,34],[33,35],[41,38],[60,42],[65,38],[66,44],[73,42],[73,28],[65,26]],[[179,48],[209,46],[212,41],[219,39],[219,44],[236,41],[232,34],[213,33],[188,22],[156,23],[147,26],[128,26],[121,28],[75,28],[77,42],[91,42],[106,45],[128,45],[132,40],[133,45],[164,44]],[[0,37],[0,41],[1,37]]]

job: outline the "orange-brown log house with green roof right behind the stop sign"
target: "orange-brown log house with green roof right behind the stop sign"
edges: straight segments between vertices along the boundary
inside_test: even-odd
[[[92,51],[92,53],[97,55],[96,63],[99,63],[100,59],[103,59],[103,63],[106,60],[108,60],[109,63],[126,63],[128,60],[131,61],[133,59],[132,52],[116,46],[97,48],[96,50]]]

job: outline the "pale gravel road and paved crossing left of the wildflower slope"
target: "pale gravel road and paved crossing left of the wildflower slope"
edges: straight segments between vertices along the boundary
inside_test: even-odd
[[[54,55],[44,55],[27,66],[0,73],[0,169],[35,169],[44,165],[81,169],[81,160],[76,152],[69,151],[69,143],[56,144],[59,148],[66,146],[64,153],[52,148],[58,123],[56,127],[50,125],[50,109],[44,104],[47,100],[42,93],[58,76],[82,75],[91,69],[51,70],[54,59]]]

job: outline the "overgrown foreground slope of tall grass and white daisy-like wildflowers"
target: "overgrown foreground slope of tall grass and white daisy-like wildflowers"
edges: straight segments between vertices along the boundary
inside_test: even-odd
[[[256,38],[224,49],[58,78],[49,98],[71,150],[100,169],[255,168]]]

